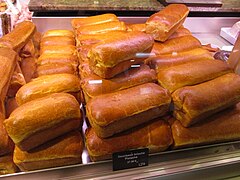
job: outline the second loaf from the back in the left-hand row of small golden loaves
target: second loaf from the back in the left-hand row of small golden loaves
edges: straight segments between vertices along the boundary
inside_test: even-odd
[[[49,45],[40,48],[40,55],[42,54],[70,54],[76,55],[77,50],[73,45]]]

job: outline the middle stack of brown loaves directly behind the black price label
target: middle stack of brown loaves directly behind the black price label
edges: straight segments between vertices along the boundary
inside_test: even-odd
[[[171,98],[154,83],[154,70],[143,64],[154,43],[152,36],[130,31],[113,14],[73,19],[72,26],[91,125],[85,133],[91,159],[141,147],[150,152],[167,149],[171,130],[160,117],[167,114]]]

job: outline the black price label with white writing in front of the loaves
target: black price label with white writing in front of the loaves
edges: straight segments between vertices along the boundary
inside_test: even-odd
[[[148,148],[113,153],[113,171],[147,166],[148,153]]]

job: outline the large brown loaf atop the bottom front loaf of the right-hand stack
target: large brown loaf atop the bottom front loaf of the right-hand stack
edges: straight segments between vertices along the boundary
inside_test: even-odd
[[[240,76],[228,73],[213,80],[186,86],[172,94],[174,116],[184,127],[240,101]]]

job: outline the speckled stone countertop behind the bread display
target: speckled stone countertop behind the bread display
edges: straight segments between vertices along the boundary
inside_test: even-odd
[[[31,0],[31,11],[159,11],[158,0]],[[192,6],[191,12],[240,12],[240,0],[222,0],[222,6]]]

